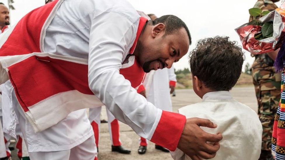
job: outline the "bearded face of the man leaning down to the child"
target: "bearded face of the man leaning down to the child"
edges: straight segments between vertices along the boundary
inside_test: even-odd
[[[150,36],[147,41],[141,42],[140,65],[146,73],[165,67],[171,68],[173,62],[179,61],[187,53],[189,43],[184,28],[166,36],[164,36],[164,31],[160,32],[158,36]]]

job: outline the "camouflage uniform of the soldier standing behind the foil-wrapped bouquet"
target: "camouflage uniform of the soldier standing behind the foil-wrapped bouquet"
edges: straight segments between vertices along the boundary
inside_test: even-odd
[[[269,0],[258,0],[254,6],[265,10],[275,10],[277,6]],[[253,17],[250,17],[252,20]],[[267,54],[252,55],[253,84],[258,101],[258,116],[263,126],[261,150],[271,150],[274,116],[280,100],[281,76],[275,73],[274,61]]]

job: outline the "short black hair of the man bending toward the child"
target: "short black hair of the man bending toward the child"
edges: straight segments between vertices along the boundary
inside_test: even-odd
[[[188,27],[180,18],[176,17],[175,15],[164,15],[153,21],[150,20],[150,22],[152,22],[152,25],[163,23],[165,25],[165,36],[168,34],[173,34],[181,28],[185,28],[191,45],[192,41]]]

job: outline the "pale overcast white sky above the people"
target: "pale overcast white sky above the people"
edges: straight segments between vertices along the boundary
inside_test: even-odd
[[[15,10],[11,10],[11,24],[17,23],[29,11],[44,5],[45,0],[13,0]],[[182,19],[190,30],[192,45],[188,53],[193,50],[199,39],[213,36],[228,36],[231,41],[241,45],[235,28],[248,22],[248,9],[252,8],[256,0],[128,0],[136,10],[146,14],[175,15]],[[7,4],[7,0],[0,0]],[[175,2],[175,3],[174,3]],[[281,2],[277,2],[280,6]],[[246,63],[252,64],[254,58],[246,50],[243,70]],[[174,64],[176,69],[189,68],[188,53]]]

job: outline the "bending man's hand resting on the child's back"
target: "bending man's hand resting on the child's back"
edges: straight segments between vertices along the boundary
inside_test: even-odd
[[[223,136],[220,133],[207,133],[200,126],[209,128],[217,127],[209,119],[188,118],[177,148],[193,160],[201,158],[211,159],[216,156],[216,152],[220,149],[219,141],[223,139]],[[207,142],[214,142],[214,144],[211,145]]]

